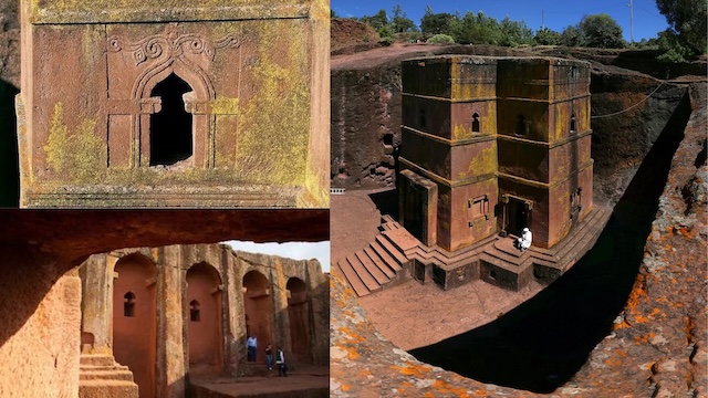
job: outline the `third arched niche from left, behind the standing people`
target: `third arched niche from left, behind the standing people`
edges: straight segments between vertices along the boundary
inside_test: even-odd
[[[272,341],[273,331],[271,320],[273,318],[273,304],[270,297],[270,283],[268,279],[258,271],[249,271],[243,275],[243,306],[248,331],[258,339],[256,359],[258,363],[266,363],[264,349],[268,344],[277,347],[278,342]]]

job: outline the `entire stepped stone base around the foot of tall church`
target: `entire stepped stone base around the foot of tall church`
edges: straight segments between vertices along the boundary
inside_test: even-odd
[[[384,216],[382,232],[375,240],[367,248],[340,260],[337,266],[358,296],[400,280],[406,273],[403,270],[413,272],[410,264],[431,270],[442,289],[482,279],[506,289],[520,290],[532,279],[550,283],[568,271],[595,244],[611,214],[611,208],[595,206],[569,237],[553,248],[531,247],[524,252],[513,247],[516,238],[498,235],[455,252],[437,245],[427,247],[389,216]],[[455,279],[449,277],[452,273],[456,273]]]

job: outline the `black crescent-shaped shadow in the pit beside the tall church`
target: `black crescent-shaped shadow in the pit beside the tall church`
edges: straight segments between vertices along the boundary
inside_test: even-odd
[[[497,321],[409,353],[465,377],[534,392],[570,380],[627,302],[690,113],[685,94],[597,243],[566,274]]]

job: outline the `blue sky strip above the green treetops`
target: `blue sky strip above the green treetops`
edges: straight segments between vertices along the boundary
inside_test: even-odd
[[[574,25],[583,15],[610,14],[621,27],[624,39],[629,42],[631,17],[629,0],[491,0],[491,1],[440,1],[430,0],[331,0],[331,7],[339,17],[373,15],[384,9],[392,17],[392,9],[400,4],[406,15],[420,27],[420,18],[429,4],[434,13],[459,11],[482,11],[498,21],[509,15],[512,21],[524,21],[533,31],[542,25],[562,32],[568,25]],[[634,41],[656,38],[668,28],[666,18],[659,13],[655,0],[633,0]]]

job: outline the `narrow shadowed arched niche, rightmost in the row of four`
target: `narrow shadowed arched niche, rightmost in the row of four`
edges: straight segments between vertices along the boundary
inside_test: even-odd
[[[287,285],[288,317],[290,318],[290,343],[292,356],[299,362],[310,363],[310,332],[308,322],[308,286],[299,277],[291,277]]]

